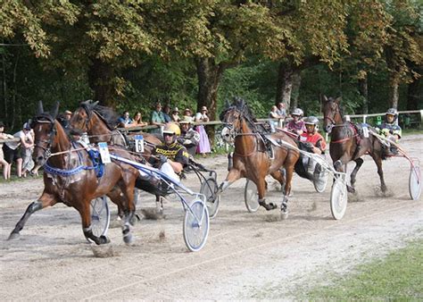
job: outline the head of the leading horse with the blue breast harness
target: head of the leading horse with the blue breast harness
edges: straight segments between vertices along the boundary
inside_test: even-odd
[[[38,103],[37,115],[31,121],[31,128],[34,130],[34,153],[32,158],[34,162],[39,165],[46,163],[46,160],[51,155],[51,149],[55,144],[54,139],[57,134],[57,127],[61,127],[55,121],[59,113],[59,102],[54,105],[54,109],[50,112],[44,112],[43,104]],[[59,126],[58,126],[59,125]],[[64,133],[64,130],[62,130]]]

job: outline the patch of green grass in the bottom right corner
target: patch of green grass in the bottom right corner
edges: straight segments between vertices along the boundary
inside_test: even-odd
[[[361,264],[330,286],[315,287],[299,299],[423,300],[423,239],[391,252],[386,258]]]

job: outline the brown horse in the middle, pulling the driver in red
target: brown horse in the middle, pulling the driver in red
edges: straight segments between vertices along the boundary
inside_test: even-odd
[[[272,203],[267,204],[264,198],[266,193],[265,177],[270,174],[284,188],[281,210],[282,217],[286,218],[287,197],[291,192],[294,164],[300,153],[291,148],[273,146],[273,158],[270,158],[265,143],[267,138],[261,136],[260,130],[254,123],[253,114],[242,99],[236,99],[236,102],[229,106],[220,117],[228,128],[235,131],[233,165],[230,167],[226,179],[220,184],[220,191],[228,188],[230,184],[240,178],[253,180],[258,189],[259,204],[268,211],[272,210],[277,206]],[[270,138],[275,141],[284,140],[286,143],[296,146],[294,140],[283,132],[273,133]],[[282,167],[285,167],[286,175],[281,172]]]

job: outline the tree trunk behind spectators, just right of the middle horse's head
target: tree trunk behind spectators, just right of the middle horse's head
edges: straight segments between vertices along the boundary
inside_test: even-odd
[[[294,84],[294,74],[295,71],[290,64],[279,63],[275,104],[284,103],[289,110],[292,110],[291,94]]]

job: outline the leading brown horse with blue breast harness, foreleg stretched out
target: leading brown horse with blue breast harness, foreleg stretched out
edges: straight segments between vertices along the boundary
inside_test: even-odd
[[[19,237],[31,214],[62,202],[77,209],[87,239],[96,244],[107,243],[109,239],[96,237],[91,230],[90,201],[108,194],[117,186],[122,193],[118,206],[124,211],[123,239],[130,243],[132,235],[129,221],[135,212],[133,197],[135,181],[139,175],[137,169],[115,162],[101,164],[98,157],[95,158],[95,150],[89,152],[79,142],[68,138],[60,122],[55,120],[57,112],[58,105],[53,113],[45,113],[41,102],[38,105],[37,116],[32,122],[35,131],[33,158],[37,164],[45,166],[45,188],[41,197],[28,206],[9,239]],[[115,149],[114,152],[119,155],[126,153],[123,149]]]

